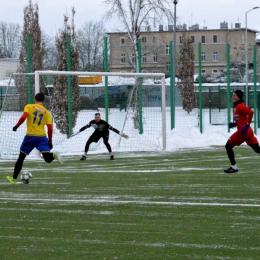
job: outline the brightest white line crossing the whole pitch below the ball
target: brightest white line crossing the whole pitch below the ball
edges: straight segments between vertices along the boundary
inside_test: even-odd
[[[24,201],[25,198],[0,198],[0,200],[5,201]],[[164,201],[134,201],[134,200],[106,200],[106,199],[31,199],[26,198],[26,203],[28,201],[48,201],[48,202],[67,202],[67,203],[111,203],[111,204],[147,204],[147,205],[172,205],[172,206],[213,206],[213,207],[254,207],[259,208],[260,204],[241,204],[241,203],[202,203],[202,202],[164,202]]]

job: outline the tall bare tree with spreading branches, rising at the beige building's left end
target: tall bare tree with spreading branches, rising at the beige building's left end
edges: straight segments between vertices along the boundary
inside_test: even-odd
[[[134,61],[130,60],[130,63],[134,70],[138,71],[138,39],[141,35],[141,28],[161,23],[165,19],[172,22],[173,2],[170,0],[104,0],[104,3],[109,6],[106,18],[116,18],[123,30],[127,32],[135,54]],[[136,79],[129,100],[135,111],[133,119],[136,128],[139,127],[138,102],[138,79]]]

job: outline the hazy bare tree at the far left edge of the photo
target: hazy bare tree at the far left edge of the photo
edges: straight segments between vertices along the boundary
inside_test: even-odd
[[[21,26],[0,22],[0,58],[18,58]]]

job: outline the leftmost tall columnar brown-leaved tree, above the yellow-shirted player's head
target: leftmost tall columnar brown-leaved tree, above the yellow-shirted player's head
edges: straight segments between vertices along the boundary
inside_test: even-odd
[[[20,64],[18,72],[27,73],[27,35],[30,35],[30,52],[31,52],[31,72],[35,70],[43,70],[43,59],[45,54],[45,46],[42,42],[41,28],[39,25],[39,8],[38,4],[33,5],[29,0],[29,5],[24,8],[24,25],[21,35]],[[20,95],[21,107],[28,103],[28,76],[16,76],[15,85]],[[44,92],[44,84],[40,82],[40,91]],[[32,95],[34,96],[34,89]]]

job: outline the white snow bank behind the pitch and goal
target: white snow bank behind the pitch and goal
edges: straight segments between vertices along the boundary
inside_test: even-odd
[[[77,124],[73,131],[79,130],[94,118],[97,111],[82,110],[79,113]],[[101,117],[105,119],[105,111],[100,110]],[[21,112],[3,112],[0,121],[0,158],[13,158],[19,153],[19,147],[23,140],[26,124],[24,123],[17,132],[13,132],[12,128],[21,116]],[[166,109],[166,151],[176,151],[184,148],[210,147],[221,145],[224,146],[228,137],[235,130],[228,133],[226,122],[226,111],[217,111],[214,114],[215,122],[209,123],[209,111],[203,111],[203,133],[200,133],[199,127],[199,110],[194,109],[187,114],[182,108],[175,110],[175,128],[171,130],[170,109]],[[110,144],[113,151],[163,151],[162,149],[162,114],[160,108],[144,108],[143,110],[143,134],[139,134],[134,129],[133,114],[126,114],[125,111],[119,109],[109,110],[109,123],[129,135],[129,139],[121,138],[119,135],[110,131]],[[65,135],[61,135],[54,125],[53,144],[54,149],[59,152],[72,155],[82,154],[88,137],[93,132],[93,128],[89,128],[82,133],[67,139]],[[98,143],[93,143],[90,147],[90,153],[106,153],[102,139]],[[35,153],[32,152],[32,155]]]

